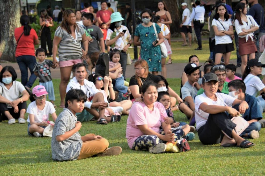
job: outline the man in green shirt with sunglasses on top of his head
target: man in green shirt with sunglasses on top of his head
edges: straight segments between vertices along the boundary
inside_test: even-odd
[[[226,67],[222,64],[218,64],[213,66],[213,68],[211,68],[211,73],[214,73],[217,75],[218,77],[218,93],[224,93],[224,94],[228,94],[229,90],[228,90],[228,82],[226,82]],[[197,95],[201,95],[204,92],[204,90],[201,88]]]

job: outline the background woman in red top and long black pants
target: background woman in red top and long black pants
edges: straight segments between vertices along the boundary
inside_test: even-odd
[[[53,21],[52,18],[47,14],[47,11],[45,9],[41,10],[41,16],[39,18],[39,24],[41,25],[41,48],[45,50],[45,54],[47,56],[52,55],[52,43],[51,43],[51,31],[50,26],[52,27]],[[47,45],[49,49],[49,54],[47,54],[46,49],[46,39],[47,39]]]

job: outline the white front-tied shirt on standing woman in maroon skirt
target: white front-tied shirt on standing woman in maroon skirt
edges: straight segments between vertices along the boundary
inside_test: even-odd
[[[252,36],[254,36],[253,33],[250,33],[250,34],[245,35],[245,36],[239,36],[239,34],[241,32],[243,32],[242,29],[248,30],[253,26],[259,27],[259,25],[257,24],[257,22],[254,20],[254,18],[251,15],[246,15],[246,17],[248,19],[248,23],[246,23],[244,20],[241,19],[243,25],[239,24],[239,21],[237,19],[235,20],[236,33],[237,33],[238,37],[240,37],[240,38],[246,37],[246,41],[248,41],[249,37],[253,41],[253,37],[252,37]]]

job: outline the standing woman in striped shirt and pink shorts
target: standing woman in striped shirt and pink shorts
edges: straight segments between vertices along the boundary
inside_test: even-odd
[[[82,50],[81,42],[85,48],[84,50]],[[57,50],[59,61],[56,59]],[[82,63],[82,58],[86,56],[87,51],[88,41],[85,30],[81,25],[76,24],[74,12],[72,10],[65,10],[63,13],[63,21],[55,31],[52,48],[53,63],[60,67],[61,72],[61,82],[59,86],[61,108],[64,107],[66,87],[70,79],[73,65]]]

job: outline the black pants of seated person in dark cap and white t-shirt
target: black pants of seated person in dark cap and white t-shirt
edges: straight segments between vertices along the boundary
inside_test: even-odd
[[[203,144],[219,144],[224,136],[222,130],[231,137],[235,127],[236,124],[230,120],[225,112],[210,114],[206,124],[198,130],[198,136]]]

